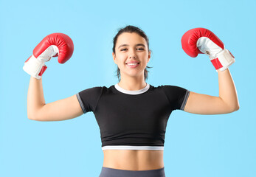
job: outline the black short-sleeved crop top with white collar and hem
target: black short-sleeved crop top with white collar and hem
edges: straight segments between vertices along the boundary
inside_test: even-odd
[[[118,84],[77,93],[83,113],[93,111],[100,127],[102,150],[163,150],[167,120],[184,110],[190,91],[178,86],[128,91]]]

